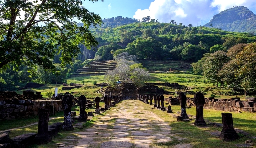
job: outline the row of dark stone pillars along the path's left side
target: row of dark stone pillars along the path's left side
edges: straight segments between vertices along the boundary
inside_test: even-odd
[[[72,94],[66,95],[62,99],[62,108],[64,110],[64,122],[62,124],[62,129],[63,130],[73,130],[73,125],[71,122],[71,108],[73,105],[73,98],[74,96]],[[104,97],[104,102],[105,102],[105,108],[102,108],[101,111],[107,110],[110,107],[114,107],[115,104],[118,102],[122,101],[122,97],[119,96],[113,96],[113,102],[111,97]],[[96,103],[96,110],[95,114],[100,114],[100,109],[99,109],[99,102],[101,101],[100,97],[95,97],[95,103]],[[86,106],[86,97],[84,95],[81,95],[78,99],[78,103],[80,106],[79,109],[79,118],[78,122],[86,122],[86,112],[85,112],[85,106]],[[49,122],[49,114],[50,114],[50,109],[43,109],[43,108],[38,108],[38,133],[37,136],[34,138],[35,143],[38,145],[45,144],[47,142],[50,142],[52,137],[48,133],[48,122]]]

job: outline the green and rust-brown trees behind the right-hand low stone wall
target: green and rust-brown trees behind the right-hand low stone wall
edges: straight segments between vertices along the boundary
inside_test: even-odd
[[[227,51],[204,54],[192,63],[193,71],[202,74],[214,86],[242,87],[247,91],[256,88],[256,42],[236,44]]]

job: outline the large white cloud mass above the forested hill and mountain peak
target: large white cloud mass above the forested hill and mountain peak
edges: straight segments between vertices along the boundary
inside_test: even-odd
[[[175,20],[185,26],[200,26],[208,23],[215,14],[233,6],[246,6],[255,12],[255,0],[154,0],[148,9],[138,9],[133,18],[141,20],[150,16],[159,22]]]

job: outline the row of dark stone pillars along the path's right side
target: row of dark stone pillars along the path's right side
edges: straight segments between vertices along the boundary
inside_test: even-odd
[[[165,110],[164,108],[164,96],[163,95],[154,95],[153,97],[151,95],[137,95],[138,100],[153,105],[152,100],[154,99],[154,108]],[[181,105],[181,114],[177,117],[177,121],[187,121],[191,120],[189,119],[189,116],[186,113],[186,101],[187,97],[186,94],[181,92],[178,96],[180,105]],[[150,103],[149,103],[150,100]],[[161,101],[161,106],[160,106]],[[195,126],[206,126],[206,122],[203,119],[203,105],[205,104],[205,97],[201,92],[197,92],[194,95],[194,103],[196,106],[196,119],[194,122]],[[167,113],[171,113],[171,106],[168,106]],[[222,124],[223,128],[221,131],[220,139],[223,141],[232,141],[235,139],[238,139],[238,134],[234,130],[233,127],[233,118],[231,113],[222,113]]]

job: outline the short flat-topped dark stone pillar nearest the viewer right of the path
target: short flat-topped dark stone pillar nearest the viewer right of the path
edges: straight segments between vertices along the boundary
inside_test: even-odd
[[[231,113],[221,113],[222,116],[222,131],[220,139],[223,141],[233,141],[238,139],[238,134],[234,130],[233,118]]]

